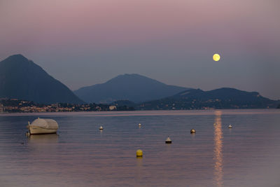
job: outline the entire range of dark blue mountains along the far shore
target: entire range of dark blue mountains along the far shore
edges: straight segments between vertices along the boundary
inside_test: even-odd
[[[74,92],[76,95],[79,95],[78,92],[88,95],[89,99],[85,101],[90,103],[125,104],[137,109],[260,109],[276,108],[280,102],[262,97],[258,92],[235,88],[209,91],[183,88],[139,74],[119,75],[105,83]],[[0,98],[26,99],[44,104],[83,104],[76,95],[23,55],[11,55],[0,62]]]

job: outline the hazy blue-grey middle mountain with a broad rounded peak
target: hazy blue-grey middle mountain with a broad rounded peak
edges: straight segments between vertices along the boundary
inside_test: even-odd
[[[91,85],[74,91],[85,102],[111,103],[117,100],[144,102],[174,95],[186,90],[174,85],[166,85],[138,74],[124,74],[106,83]]]

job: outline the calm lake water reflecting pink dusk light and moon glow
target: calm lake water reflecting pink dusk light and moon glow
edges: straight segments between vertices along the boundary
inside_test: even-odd
[[[38,117],[57,134],[26,137]],[[0,167],[0,186],[280,186],[280,110],[0,114]]]

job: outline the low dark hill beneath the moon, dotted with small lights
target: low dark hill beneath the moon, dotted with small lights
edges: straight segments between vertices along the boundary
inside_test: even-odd
[[[211,91],[186,90],[172,97],[144,102],[137,109],[275,109],[279,102],[262,97],[258,92],[234,88]]]

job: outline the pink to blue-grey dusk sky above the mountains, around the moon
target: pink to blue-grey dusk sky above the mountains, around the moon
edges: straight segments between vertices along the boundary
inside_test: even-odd
[[[141,74],[280,99],[279,7],[278,0],[0,0],[0,60],[25,55],[71,90]]]

